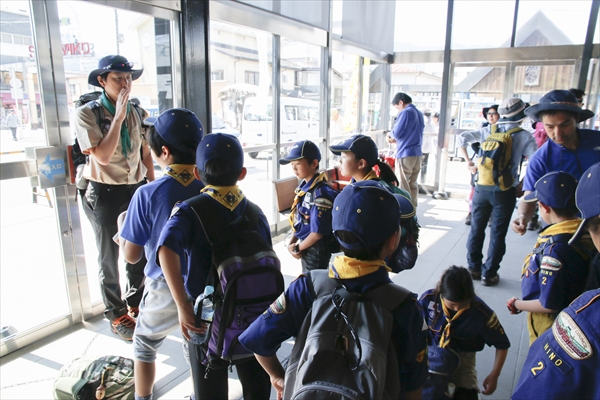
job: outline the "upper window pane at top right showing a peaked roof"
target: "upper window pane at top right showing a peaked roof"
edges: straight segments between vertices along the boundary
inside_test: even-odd
[[[521,0],[515,46],[585,43],[591,5],[589,0]]]

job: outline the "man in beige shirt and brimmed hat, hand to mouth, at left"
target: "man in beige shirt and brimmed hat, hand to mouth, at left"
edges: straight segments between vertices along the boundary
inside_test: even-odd
[[[83,198],[98,248],[99,281],[105,317],[111,329],[124,340],[132,340],[135,315],[144,283],[142,258],[138,263],[125,263],[127,292],[121,297],[119,281],[119,245],[116,235],[117,218],[127,210],[135,190],[154,180],[150,149],[144,137],[143,113],[129,101],[132,82],[143,69],[133,69],[133,63],[120,55],[109,55],[90,72],[88,83],[102,88],[95,107],[101,107],[103,118],[98,119],[88,103],[75,111],[75,132],[81,151],[89,155],[83,176],[89,183]]]

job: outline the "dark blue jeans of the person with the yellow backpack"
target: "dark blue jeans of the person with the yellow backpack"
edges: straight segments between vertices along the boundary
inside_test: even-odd
[[[482,190],[475,186],[471,211],[471,232],[467,241],[467,262],[470,269],[481,271],[489,279],[498,274],[500,262],[506,252],[506,232],[516,204],[515,188]],[[492,217],[490,245],[483,264],[483,241],[485,228]]]

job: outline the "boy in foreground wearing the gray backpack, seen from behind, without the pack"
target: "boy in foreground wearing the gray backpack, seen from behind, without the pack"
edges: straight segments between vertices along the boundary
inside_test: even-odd
[[[412,204],[394,196],[374,181],[348,185],[333,204],[333,230],[345,255],[337,256],[329,277],[351,292],[366,292],[391,282],[383,259],[400,240],[401,211]],[[240,336],[240,342],[256,354],[271,376],[281,398],[285,371],[276,352],[281,343],[297,336],[310,312],[314,291],[306,275],[300,275],[288,289]],[[427,357],[423,317],[416,294],[411,294],[393,310],[392,343],[398,355],[400,398],[420,398],[427,378]]]

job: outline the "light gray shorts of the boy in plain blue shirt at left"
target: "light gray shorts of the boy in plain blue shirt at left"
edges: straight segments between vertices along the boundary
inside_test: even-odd
[[[167,281],[146,277],[144,296],[133,334],[133,356],[153,363],[165,338],[179,326],[177,305]]]

